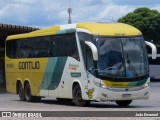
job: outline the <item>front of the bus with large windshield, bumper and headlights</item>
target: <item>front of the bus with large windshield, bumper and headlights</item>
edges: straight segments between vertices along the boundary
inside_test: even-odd
[[[120,106],[127,106],[134,99],[147,99],[150,79],[143,37],[98,35],[88,38],[90,40],[85,43],[94,60],[94,67],[88,68],[95,85],[93,98],[95,96],[96,101],[116,101]],[[155,53],[154,46],[151,47]],[[92,62],[87,66],[93,66],[89,64]]]

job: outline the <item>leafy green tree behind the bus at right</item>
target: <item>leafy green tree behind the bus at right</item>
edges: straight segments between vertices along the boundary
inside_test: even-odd
[[[160,44],[160,13],[146,7],[137,8],[118,20],[138,28],[145,40]]]

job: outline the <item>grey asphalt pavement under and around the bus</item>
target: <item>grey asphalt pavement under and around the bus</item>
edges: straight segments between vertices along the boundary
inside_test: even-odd
[[[126,108],[118,107],[115,102],[92,102],[87,107],[77,107],[72,102],[61,104],[55,98],[28,103],[20,101],[18,95],[4,93],[0,94],[0,111],[160,111],[160,82],[151,83],[148,100],[135,100]]]

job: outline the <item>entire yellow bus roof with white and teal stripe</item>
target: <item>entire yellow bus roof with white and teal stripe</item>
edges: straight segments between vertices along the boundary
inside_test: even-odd
[[[73,30],[76,28],[85,29],[93,35],[102,35],[102,36],[142,35],[142,33],[135,27],[132,27],[130,25],[123,24],[123,23],[86,22],[86,23],[53,26],[53,27],[44,28],[41,30],[26,33],[26,34],[11,35],[7,37],[7,40],[61,34],[61,33],[67,32],[67,30],[71,31],[71,29]]]

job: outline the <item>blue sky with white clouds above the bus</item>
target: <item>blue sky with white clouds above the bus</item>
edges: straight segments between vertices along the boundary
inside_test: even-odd
[[[160,12],[160,0],[0,0],[0,23],[44,28],[72,23],[116,22],[139,7]]]

